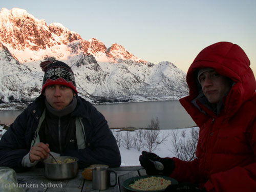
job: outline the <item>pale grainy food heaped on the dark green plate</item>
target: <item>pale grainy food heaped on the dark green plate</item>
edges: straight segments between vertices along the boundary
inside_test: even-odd
[[[162,190],[170,184],[172,184],[172,182],[169,180],[162,177],[152,176],[138,179],[133,184],[130,184],[130,187],[138,190]]]

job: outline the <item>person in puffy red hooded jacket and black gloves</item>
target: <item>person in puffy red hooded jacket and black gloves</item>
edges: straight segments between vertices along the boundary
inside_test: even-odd
[[[256,81],[249,66],[238,45],[217,42],[189,67],[189,95],[180,103],[200,127],[197,157],[187,162],[147,152],[140,156],[147,174],[162,172],[194,184],[166,191],[256,191]],[[150,159],[164,169],[157,170]]]

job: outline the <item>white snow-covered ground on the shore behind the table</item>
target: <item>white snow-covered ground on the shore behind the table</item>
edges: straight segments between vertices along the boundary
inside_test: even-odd
[[[160,157],[174,157],[175,155],[171,152],[172,148],[173,148],[172,133],[177,132],[178,139],[182,138],[183,136],[185,136],[186,139],[189,139],[191,137],[191,135],[190,135],[191,129],[193,129],[193,128],[191,127],[191,128],[178,129],[178,130],[160,130],[160,133],[159,133],[160,140],[163,138],[163,136],[167,136],[168,134],[169,134],[169,136],[166,138],[165,141],[158,144],[156,150],[154,150],[153,153],[157,154]],[[199,129],[199,128],[194,127],[194,129]],[[115,137],[116,137],[117,131],[118,130],[113,130],[113,132],[114,132],[113,134],[115,135]],[[6,130],[4,130],[3,126],[0,125],[0,139],[5,132],[6,132]],[[138,132],[138,130],[136,130],[134,132],[128,132],[129,137],[134,136],[136,134],[136,132]],[[141,155],[142,151],[148,151],[146,146],[144,146],[144,148],[141,148],[140,151],[138,151],[134,147],[127,149],[125,147],[126,145],[123,144],[124,137],[127,138],[127,135],[126,135],[127,131],[121,131],[119,133],[122,135],[122,141],[121,141],[120,147],[119,147],[119,150],[121,153],[121,158],[122,158],[121,166],[140,165],[139,156]]]

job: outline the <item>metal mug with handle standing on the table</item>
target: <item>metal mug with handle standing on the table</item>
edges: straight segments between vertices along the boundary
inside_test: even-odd
[[[110,174],[115,174],[115,184],[112,185],[110,182]],[[107,167],[94,167],[93,168],[93,189],[105,190],[109,187],[116,186],[117,175],[114,170],[109,170]]]

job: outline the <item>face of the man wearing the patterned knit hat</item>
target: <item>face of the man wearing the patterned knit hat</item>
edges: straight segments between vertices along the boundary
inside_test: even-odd
[[[75,93],[70,87],[61,84],[47,86],[44,92],[48,103],[56,110],[62,110],[70,104]]]

